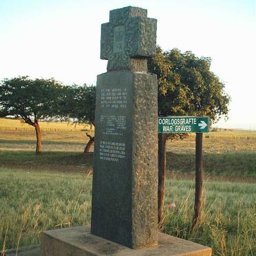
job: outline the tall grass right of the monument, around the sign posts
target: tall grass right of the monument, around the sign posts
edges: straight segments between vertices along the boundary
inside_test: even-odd
[[[167,180],[164,232],[213,248],[214,255],[256,254],[256,186],[205,182],[202,223],[191,230],[194,184]],[[169,209],[170,204],[175,208]]]

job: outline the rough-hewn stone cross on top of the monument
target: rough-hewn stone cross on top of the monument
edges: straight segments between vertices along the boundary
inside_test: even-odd
[[[100,58],[109,60],[107,71],[147,72],[147,58],[156,55],[156,23],[142,8],[111,10],[101,25]]]

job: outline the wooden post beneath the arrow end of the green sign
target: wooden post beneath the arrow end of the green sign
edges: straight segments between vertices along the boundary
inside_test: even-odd
[[[202,208],[202,182],[204,169],[202,164],[202,133],[195,135],[195,206],[192,228],[200,224]]]

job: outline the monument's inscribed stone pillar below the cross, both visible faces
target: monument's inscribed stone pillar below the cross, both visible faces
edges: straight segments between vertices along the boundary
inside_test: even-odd
[[[131,248],[157,244],[156,75],[98,76],[92,233]]]

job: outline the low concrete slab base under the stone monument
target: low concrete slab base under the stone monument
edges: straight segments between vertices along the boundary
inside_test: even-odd
[[[90,233],[89,226],[63,228],[41,233],[41,253],[44,256],[85,255],[187,255],[211,256],[211,248],[171,235],[158,233],[158,246],[130,249]]]

